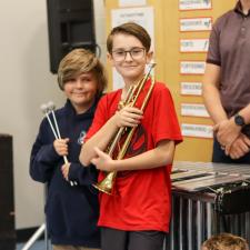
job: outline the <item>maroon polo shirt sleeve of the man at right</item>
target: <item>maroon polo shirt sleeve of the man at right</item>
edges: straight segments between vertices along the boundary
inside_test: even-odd
[[[220,31],[219,31],[219,22],[218,21],[214,23],[212,31],[210,33],[207,62],[217,64],[217,66],[221,66]]]

